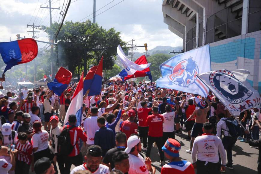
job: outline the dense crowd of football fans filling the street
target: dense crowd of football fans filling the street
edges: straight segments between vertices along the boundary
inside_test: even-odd
[[[145,81],[103,80],[99,95],[83,96],[81,125],[76,115],[64,123],[76,85],[61,96],[44,87],[1,90],[0,173],[155,173],[153,158],[161,173],[216,174],[233,169],[237,140],[261,146],[259,108],[242,112],[240,125],[211,91],[205,98]],[[190,162],[175,139],[183,131]]]

